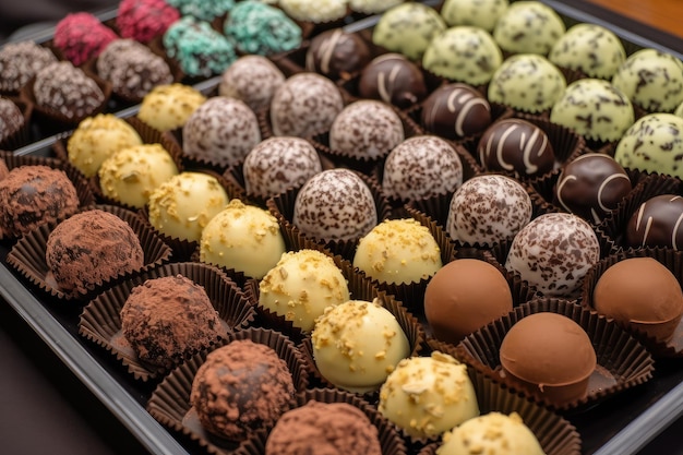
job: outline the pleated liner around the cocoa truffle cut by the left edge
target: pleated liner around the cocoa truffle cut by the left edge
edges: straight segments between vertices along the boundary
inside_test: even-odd
[[[86,209],[95,205],[95,195],[93,194],[87,180],[76,168],[71,166],[69,163],[62,163],[60,159],[49,156],[16,155],[12,152],[7,151],[0,151],[0,159],[5,163],[9,170],[22,166],[47,166],[52,169],[63,170],[76,190],[80,209]],[[70,215],[72,214],[64,214],[60,219],[58,219],[58,221],[64,219]],[[16,241],[16,238],[14,236],[3,232],[3,229],[0,229],[0,241],[14,242]]]

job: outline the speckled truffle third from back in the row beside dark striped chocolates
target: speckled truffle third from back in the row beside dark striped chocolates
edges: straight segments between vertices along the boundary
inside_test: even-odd
[[[382,158],[404,139],[398,113],[387,104],[373,99],[347,105],[329,129],[332,152],[358,159]]]

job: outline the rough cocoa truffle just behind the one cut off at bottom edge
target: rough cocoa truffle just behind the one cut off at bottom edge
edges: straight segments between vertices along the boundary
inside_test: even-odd
[[[275,350],[243,339],[206,356],[192,381],[190,403],[206,431],[240,441],[273,427],[293,394],[291,373]]]

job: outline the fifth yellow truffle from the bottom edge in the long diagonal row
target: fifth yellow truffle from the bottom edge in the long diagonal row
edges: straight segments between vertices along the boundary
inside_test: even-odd
[[[214,216],[200,240],[200,261],[261,279],[285,252],[277,219],[233,199]]]

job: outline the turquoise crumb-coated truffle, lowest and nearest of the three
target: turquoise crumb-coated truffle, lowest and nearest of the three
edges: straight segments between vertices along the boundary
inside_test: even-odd
[[[164,34],[168,57],[189,76],[221,74],[236,59],[233,45],[208,22],[184,16]]]

